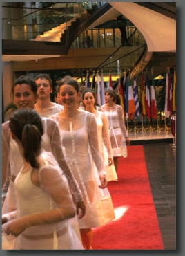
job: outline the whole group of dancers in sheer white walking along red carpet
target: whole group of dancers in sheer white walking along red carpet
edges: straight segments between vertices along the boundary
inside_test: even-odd
[[[118,181],[121,147],[130,145],[115,91],[101,111],[95,92],[81,93],[70,76],[58,82],[58,103],[51,92],[46,74],[12,86],[17,110],[2,124],[5,250],[92,250],[93,228],[115,219],[107,185]]]

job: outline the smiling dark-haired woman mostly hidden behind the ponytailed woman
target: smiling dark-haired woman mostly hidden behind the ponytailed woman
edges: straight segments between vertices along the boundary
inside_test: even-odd
[[[37,84],[30,77],[19,77],[12,86],[12,97],[17,109],[30,108],[34,109],[34,104],[37,99]],[[52,152],[57,163],[64,175],[68,179],[68,183],[75,197],[77,214],[81,209],[82,217],[85,214],[85,206],[83,196],[79,185],[73,176],[64,152],[62,150],[61,138],[57,122],[49,118],[42,118],[43,136],[42,145],[47,152]],[[6,199],[3,203],[3,213],[10,212],[16,209],[16,196],[14,193],[14,179],[23,166],[17,143],[10,136],[9,121],[2,124],[2,188],[6,183],[8,170],[10,169],[10,185],[6,194]]]

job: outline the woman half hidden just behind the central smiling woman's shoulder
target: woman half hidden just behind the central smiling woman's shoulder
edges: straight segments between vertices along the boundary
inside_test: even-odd
[[[97,111],[97,106],[95,104],[96,95],[95,91],[92,89],[83,91],[81,98],[84,103],[84,110],[93,113],[97,120],[99,149],[106,166],[106,179],[107,181],[115,181],[117,179],[117,174],[113,165],[113,152],[110,144],[108,119],[106,114],[102,111]]]

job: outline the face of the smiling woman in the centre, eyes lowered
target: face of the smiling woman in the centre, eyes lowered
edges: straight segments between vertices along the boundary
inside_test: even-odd
[[[64,108],[77,108],[79,93],[77,93],[72,85],[64,84],[60,86],[59,98]]]

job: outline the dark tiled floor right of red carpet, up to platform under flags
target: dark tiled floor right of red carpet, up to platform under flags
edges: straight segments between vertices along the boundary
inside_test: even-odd
[[[176,250],[176,150],[171,132],[130,133],[129,137],[131,143],[144,145],[146,167],[164,249]]]

